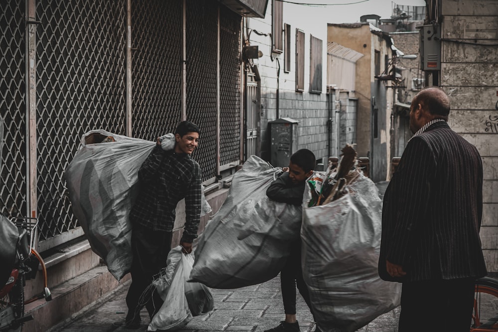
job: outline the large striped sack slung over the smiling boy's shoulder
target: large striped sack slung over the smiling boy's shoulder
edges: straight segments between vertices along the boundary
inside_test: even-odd
[[[96,137],[99,143],[93,143]],[[104,142],[100,142],[102,137],[106,137]],[[161,138],[163,149],[174,148],[173,134]],[[138,169],[155,145],[102,129],[91,130],[82,136],[81,146],[64,172],[74,216],[92,250],[105,260],[117,280],[131,268],[128,216],[137,195]],[[204,195],[202,201],[201,216],[211,211]],[[181,207],[185,214],[184,206],[183,201],[178,204],[177,217],[182,216],[182,210],[178,211]]]

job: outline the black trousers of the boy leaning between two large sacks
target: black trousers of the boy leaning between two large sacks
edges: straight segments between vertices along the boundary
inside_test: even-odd
[[[313,314],[308,287],[304,283],[303,270],[301,268],[301,239],[291,243],[290,255],[282,271],[280,271],[283,308],[287,315],[296,314],[296,286]]]

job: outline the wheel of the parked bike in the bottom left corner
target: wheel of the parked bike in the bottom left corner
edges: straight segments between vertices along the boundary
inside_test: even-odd
[[[0,299],[0,331],[20,332],[24,316],[24,273],[19,273],[14,286]]]

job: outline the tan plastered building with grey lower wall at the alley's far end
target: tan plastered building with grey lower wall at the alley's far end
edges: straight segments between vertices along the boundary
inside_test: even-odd
[[[327,42],[350,48],[363,57],[356,61],[356,144],[359,157],[370,158],[373,181],[389,178],[390,115],[393,91],[388,79],[392,52],[389,35],[369,22],[328,24]]]

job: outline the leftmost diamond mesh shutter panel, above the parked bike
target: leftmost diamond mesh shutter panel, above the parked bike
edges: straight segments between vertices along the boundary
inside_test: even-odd
[[[24,0],[0,1],[0,212],[26,214],[26,103]]]

